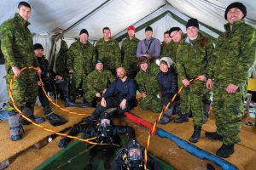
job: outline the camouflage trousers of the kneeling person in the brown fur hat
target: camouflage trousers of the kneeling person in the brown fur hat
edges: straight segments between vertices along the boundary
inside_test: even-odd
[[[161,100],[156,95],[147,95],[146,98],[140,100],[138,103],[143,110],[151,110],[154,113],[160,113],[163,109]]]

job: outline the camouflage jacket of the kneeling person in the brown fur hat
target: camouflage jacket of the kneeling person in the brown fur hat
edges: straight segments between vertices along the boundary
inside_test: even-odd
[[[148,70],[144,72],[140,70],[135,77],[137,82],[137,88],[139,92],[146,94],[157,94],[159,86],[157,82],[157,74],[159,73],[159,67],[154,63],[148,63]]]

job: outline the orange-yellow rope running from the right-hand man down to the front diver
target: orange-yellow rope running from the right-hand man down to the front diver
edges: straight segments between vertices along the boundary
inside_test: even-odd
[[[195,80],[198,80],[198,77],[195,77],[191,80],[189,80],[189,82],[193,82]],[[151,136],[154,134],[153,132],[155,131],[156,129],[156,126],[158,124],[158,122],[160,121],[160,118],[163,116],[164,113],[166,113],[166,110],[168,109],[169,105],[172,104],[172,102],[174,101],[174,99],[176,99],[177,95],[180,94],[180,92],[183,90],[183,87],[182,86],[181,88],[179,88],[177,90],[177,93],[172,97],[172,99],[169,101],[169,103],[166,105],[165,109],[163,111],[160,112],[160,116],[158,116],[157,120],[154,122],[154,126],[152,128],[152,131],[148,134],[148,140],[147,140],[147,146],[146,146],[146,149],[145,149],[145,156],[144,156],[144,168],[147,169],[147,161],[148,161],[148,147],[149,147],[149,143],[150,143],[150,139],[151,139]]]

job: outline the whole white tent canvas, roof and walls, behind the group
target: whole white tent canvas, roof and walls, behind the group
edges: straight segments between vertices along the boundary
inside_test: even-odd
[[[139,28],[137,37],[143,39],[144,28],[149,23],[154,29],[154,37],[162,41],[164,31],[170,27],[180,26],[185,31],[185,22],[189,18],[197,18],[201,23],[201,31],[216,38],[220,31],[224,31],[223,25],[227,22],[224,20],[224,9],[235,1],[26,0],[32,6],[29,29],[34,35],[33,41],[43,44],[45,56],[53,66],[55,58],[52,56],[58,51],[58,45],[54,41],[59,39],[55,36],[60,36],[59,33],[63,31],[64,35],[61,37],[68,46],[79,37],[79,31],[83,28],[89,31],[89,40],[94,44],[102,37],[102,28],[105,26],[109,26],[113,38],[120,41],[130,25]],[[14,16],[19,2],[20,0],[0,1],[0,24]],[[240,2],[247,6],[246,22],[256,27],[256,1]],[[5,84],[3,81],[0,83],[0,88],[3,88]],[[0,96],[3,96],[2,91]]]

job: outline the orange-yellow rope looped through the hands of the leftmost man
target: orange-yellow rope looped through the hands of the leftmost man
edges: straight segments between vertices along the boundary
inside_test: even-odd
[[[37,71],[37,68],[30,66],[30,67],[24,67],[24,68],[22,68],[22,69],[20,70],[20,73],[21,73],[22,71],[27,70],[27,69],[34,69],[35,71]],[[80,139],[79,137],[71,136],[71,135],[68,135],[68,134],[66,134],[66,133],[59,133],[59,132],[56,132],[55,130],[52,130],[52,129],[48,128],[48,127],[44,127],[44,126],[42,126],[42,125],[40,125],[40,124],[38,124],[38,123],[36,123],[36,122],[33,122],[30,118],[28,118],[27,116],[25,116],[25,115],[19,110],[19,108],[17,107],[17,105],[15,104],[15,99],[14,99],[14,97],[13,97],[12,88],[13,88],[13,84],[14,84],[14,82],[15,82],[15,78],[16,78],[16,76],[12,77],[11,82],[10,82],[10,85],[9,85],[9,97],[10,97],[10,99],[11,99],[12,104],[13,104],[14,107],[15,107],[15,110],[18,111],[18,113],[20,114],[20,116],[22,116],[23,118],[25,118],[26,121],[31,122],[31,123],[32,123],[33,125],[35,125],[36,127],[40,127],[41,129],[43,129],[43,130],[45,130],[45,131],[47,131],[47,132],[55,133],[55,134],[60,135],[60,136],[63,136],[63,137],[68,137],[68,138],[71,138],[71,139],[80,140],[80,141],[83,141],[83,142],[86,142],[86,143],[89,143],[89,144],[102,144],[102,143],[90,142],[90,140],[96,139],[96,137],[91,138],[91,139]],[[43,84],[42,79],[41,79],[40,76],[39,76],[39,79],[40,79],[40,82]],[[42,88],[43,88],[43,86],[42,86]],[[44,89],[44,88],[43,88],[43,89]],[[44,94],[46,94],[45,90],[44,90]],[[47,96],[47,95],[46,95],[46,96]],[[49,98],[48,98],[48,99],[49,99]],[[63,110],[63,111],[65,111],[65,110]],[[74,112],[74,113],[75,113],[75,112]],[[77,115],[82,115],[82,114],[77,114]],[[84,115],[84,114],[83,114],[83,115]],[[102,145],[106,145],[106,144],[102,144]]]

